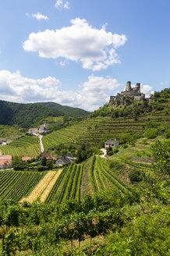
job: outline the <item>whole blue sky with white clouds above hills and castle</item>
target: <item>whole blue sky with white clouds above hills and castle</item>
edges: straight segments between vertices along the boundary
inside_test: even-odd
[[[169,0],[0,2],[0,99],[93,111],[141,83],[170,84]]]

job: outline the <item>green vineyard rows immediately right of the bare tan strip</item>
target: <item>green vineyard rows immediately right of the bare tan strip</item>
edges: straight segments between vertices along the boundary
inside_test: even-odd
[[[83,165],[71,164],[66,166],[58,177],[46,202],[62,203],[68,199],[80,201]]]

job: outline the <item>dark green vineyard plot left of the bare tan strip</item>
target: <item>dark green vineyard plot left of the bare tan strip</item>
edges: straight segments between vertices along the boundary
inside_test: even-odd
[[[0,200],[19,201],[39,183],[44,172],[0,172]]]

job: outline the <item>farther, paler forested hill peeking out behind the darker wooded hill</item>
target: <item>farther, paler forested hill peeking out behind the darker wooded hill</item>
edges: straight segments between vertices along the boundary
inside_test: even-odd
[[[83,110],[81,108],[73,108],[69,106],[62,106],[55,102],[38,102],[39,105],[44,105],[49,108],[53,108],[58,110],[59,112],[64,113],[68,116],[87,116],[90,114],[90,112],[87,112],[86,110]]]

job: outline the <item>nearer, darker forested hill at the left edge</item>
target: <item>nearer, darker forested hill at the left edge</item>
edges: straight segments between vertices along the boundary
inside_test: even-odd
[[[57,109],[37,104],[0,101],[0,124],[19,125],[24,128],[37,125],[48,116],[64,116]]]

